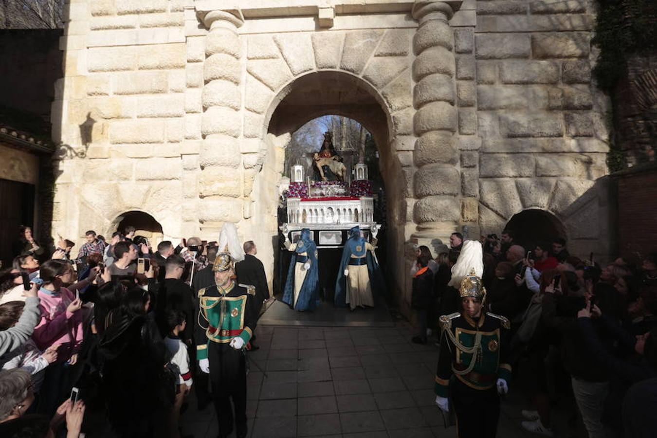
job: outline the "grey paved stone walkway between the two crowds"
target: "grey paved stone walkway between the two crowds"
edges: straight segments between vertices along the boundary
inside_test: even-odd
[[[456,437],[434,405],[438,348],[411,343],[411,331],[407,324],[259,326],[261,348],[248,353],[255,362],[248,375],[248,436]],[[215,438],[214,408],[198,412],[193,397],[189,402],[184,433]],[[498,437],[532,436],[519,429],[520,401],[511,403],[503,406]]]

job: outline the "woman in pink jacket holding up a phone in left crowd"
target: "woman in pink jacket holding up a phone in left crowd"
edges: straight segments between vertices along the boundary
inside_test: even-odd
[[[64,260],[43,263],[39,277],[41,320],[32,338],[41,350],[57,345],[57,362],[46,368],[41,399],[37,410],[52,414],[68,395],[72,366],[78,362],[78,349],[83,339],[82,301],[64,285],[71,284],[75,273]]]

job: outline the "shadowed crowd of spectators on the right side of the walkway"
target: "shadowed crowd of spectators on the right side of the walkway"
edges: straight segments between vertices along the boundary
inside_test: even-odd
[[[657,407],[657,252],[600,265],[593,253],[571,255],[563,238],[523,246],[504,230],[480,242],[484,305],[511,322],[506,341],[522,380],[518,390],[533,404],[522,410],[521,426],[537,435],[573,436],[575,415],[570,430],[553,427],[552,406],[565,400],[591,438],[654,437],[652,418],[637,410]],[[458,291],[447,284],[462,244],[455,232],[435,260],[429,248],[417,248],[413,342],[428,342],[436,326],[427,321],[461,310]]]

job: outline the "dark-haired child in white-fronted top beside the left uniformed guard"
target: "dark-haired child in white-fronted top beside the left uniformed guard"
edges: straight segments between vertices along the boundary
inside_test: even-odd
[[[175,394],[175,403],[171,419],[171,436],[179,437],[178,424],[180,420],[180,410],[183,406],[185,396],[189,394],[192,387],[192,372],[189,369],[189,355],[187,355],[187,345],[181,340],[180,334],[187,326],[186,315],[183,311],[171,310],[167,313],[167,322],[170,332],[164,343],[171,354],[171,367],[177,373],[177,389]]]

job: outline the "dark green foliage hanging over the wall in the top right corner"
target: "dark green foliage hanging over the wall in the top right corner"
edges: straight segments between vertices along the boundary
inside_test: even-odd
[[[657,48],[655,0],[598,0],[593,44],[600,56],[593,74],[600,89],[610,91],[625,74],[627,56]]]

